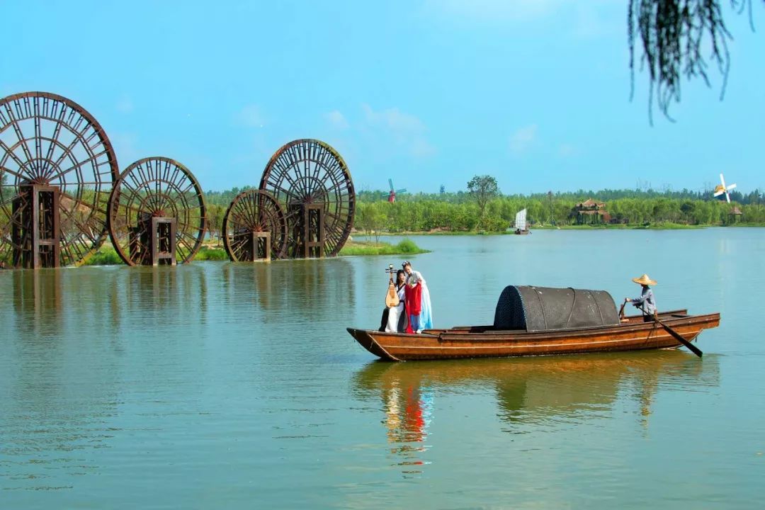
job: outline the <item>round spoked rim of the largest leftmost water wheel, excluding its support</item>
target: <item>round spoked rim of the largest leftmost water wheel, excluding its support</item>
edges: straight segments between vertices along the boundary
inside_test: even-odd
[[[119,176],[114,148],[82,106],[57,94],[0,99],[0,267],[11,267],[11,230],[21,228],[13,202],[24,184],[60,192],[59,264],[81,265],[106,240],[106,202]]]

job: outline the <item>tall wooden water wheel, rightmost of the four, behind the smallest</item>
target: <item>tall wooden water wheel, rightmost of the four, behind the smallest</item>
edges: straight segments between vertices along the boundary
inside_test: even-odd
[[[348,167],[323,141],[289,142],[272,156],[260,189],[285,210],[287,256],[334,256],[353,226],[356,194]]]

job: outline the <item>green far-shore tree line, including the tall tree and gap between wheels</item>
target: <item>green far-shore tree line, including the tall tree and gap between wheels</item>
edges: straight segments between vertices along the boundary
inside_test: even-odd
[[[485,184],[485,186],[482,186]],[[439,193],[398,193],[389,203],[382,190],[356,192],[355,236],[504,234],[516,213],[526,209],[527,226],[535,229],[696,229],[710,226],[765,226],[765,193],[731,192],[731,203],[704,190],[578,190],[562,193],[503,194],[490,176],[476,176],[467,190]],[[220,232],[223,214],[236,194],[246,188],[205,193],[209,226]],[[588,200],[597,212],[577,214]],[[601,207],[602,206],[602,207]],[[605,214],[603,214],[605,213]],[[587,223],[581,225],[579,223]],[[590,224],[594,223],[594,224]]]

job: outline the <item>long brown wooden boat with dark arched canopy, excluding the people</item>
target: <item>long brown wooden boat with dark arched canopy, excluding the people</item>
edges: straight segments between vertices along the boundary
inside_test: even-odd
[[[719,313],[688,310],[658,319],[694,340],[720,324]],[[504,356],[545,356],[584,352],[675,349],[681,344],[659,323],[642,315],[619,317],[605,291],[547,287],[505,287],[490,326],[456,326],[420,334],[347,328],[366,350],[389,361]]]

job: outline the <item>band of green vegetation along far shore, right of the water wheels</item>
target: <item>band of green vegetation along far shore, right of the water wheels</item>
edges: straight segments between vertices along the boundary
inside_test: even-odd
[[[499,196],[483,208],[469,193],[415,195],[395,203],[369,193],[356,208],[357,230],[392,235],[513,233],[516,213],[526,209],[526,226],[535,229],[698,229],[712,226],[765,226],[765,196],[740,203],[688,193],[598,192]],[[598,197],[601,195],[602,197]],[[675,196],[679,195],[679,196]],[[588,204],[588,197],[598,197]],[[733,197],[731,197],[733,198]],[[509,232],[508,232],[509,231]]]

